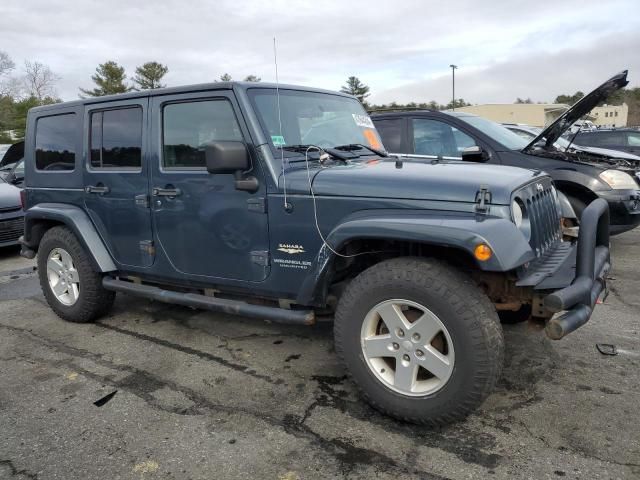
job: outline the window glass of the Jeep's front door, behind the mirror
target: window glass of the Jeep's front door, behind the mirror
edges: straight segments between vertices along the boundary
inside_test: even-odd
[[[204,169],[207,144],[243,140],[228,100],[168,104],[162,123],[164,168]]]

